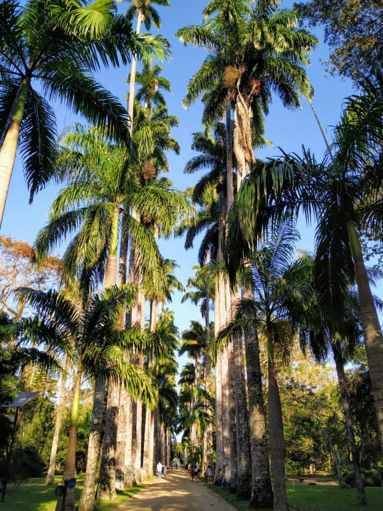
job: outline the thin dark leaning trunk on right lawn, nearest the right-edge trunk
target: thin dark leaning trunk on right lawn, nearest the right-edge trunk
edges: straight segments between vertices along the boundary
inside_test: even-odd
[[[355,435],[354,429],[352,427],[352,419],[351,419],[351,411],[350,404],[348,400],[348,392],[347,392],[347,383],[346,383],[346,375],[344,373],[344,365],[342,355],[339,352],[339,349],[336,345],[331,343],[332,353],[334,355],[335,367],[337,369],[337,376],[339,382],[339,390],[341,392],[341,400],[343,411],[346,420],[346,430],[348,435],[348,441],[350,442],[351,453],[352,453],[352,462],[354,464],[355,469],[355,482],[357,489],[357,498],[360,505],[366,505],[366,491],[362,480],[362,472],[361,472],[361,464],[359,460],[359,453],[355,443]]]

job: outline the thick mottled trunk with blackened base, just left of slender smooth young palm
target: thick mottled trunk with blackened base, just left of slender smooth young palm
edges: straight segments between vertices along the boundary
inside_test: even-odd
[[[244,299],[253,299],[249,289],[242,289]],[[255,326],[245,336],[246,374],[249,394],[250,450],[251,450],[251,495],[249,506],[271,507],[273,489],[271,485],[269,452],[267,448],[266,415],[262,392],[262,373],[259,361],[258,332]]]

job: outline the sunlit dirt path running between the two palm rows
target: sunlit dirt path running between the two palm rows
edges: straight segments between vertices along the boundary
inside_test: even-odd
[[[230,504],[201,481],[192,482],[183,469],[167,471],[141,492],[119,506],[118,511],[233,511]]]

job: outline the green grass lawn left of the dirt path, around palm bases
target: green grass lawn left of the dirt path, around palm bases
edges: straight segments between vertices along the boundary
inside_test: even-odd
[[[85,475],[76,476],[77,484],[75,487],[76,501],[79,500]],[[150,480],[150,479],[149,479]],[[55,482],[59,483],[61,476],[55,477]],[[7,486],[5,502],[0,504],[1,511],[54,511],[57,497],[55,496],[54,486],[45,486],[45,478],[31,478],[25,484]],[[138,493],[145,484],[138,484],[117,495],[116,500],[104,501],[97,505],[97,511],[112,511],[125,500]]]

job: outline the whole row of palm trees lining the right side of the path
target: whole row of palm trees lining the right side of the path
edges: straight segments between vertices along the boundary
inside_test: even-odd
[[[200,208],[197,221],[192,226],[184,223],[180,232],[186,231],[185,247],[189,248],[205,231],[199,263],[215,279],[216,341],[210,352],[216,380],[215,481],[239,498],[250,499],[252,506],[273,502],[274,511],[286,511],[276,363],[282,355],[288,356],[281,347],[291,345],[296,332],[303,347],[308,340],[313,341],[310,346],[318,356],[323,356],[330,343],[338,359],[340,382],[344,383],[341,368],[346,352],[362,335],[361,328],[355,327],[355,318],[360,315],[380,429],[383,424],[379,387],[382,336],[358,241],[360,232],[372,229],[374,235],[381,233],[382,110],[378,72],[362,84],[364,94],[346,102],[322,164],[309,151],[303,158],[284,154],[266,163],[256,161],[254,147],[265,143],[264,115],[272,92],[290,108],[299,106],[300,96],[309,100],[313,97],[304,66],[318,41],[297,28],[293,11],[278,10],[279,4],[210,2],[204,11],[205,21],[180,29],[177,35],[185,44],[209,52],[190,79],[184,99],[188,107],[202,98],[206,124],[206,133],[194,134],[193,147],[201,154],[188,162],[185,171],[208,169],[209,173],[190,191]],[[225,124],[218,121],[224,118]],[[307,221],[318,220],[314,262],[307,257],[295,263],[291,259],[297,236],[294,221],[301,211]],[[355,277],[359,309],[351,314],[349,289]],[[205,298],[204,312],[208,304],[209,298]],[[264,327],[273,488],[258,356],[258,331]],[[206,339],[208,329],[207,323]],[[364,503],[344,386],[342,397],[353,445],[358,500]],[[190,437],[193,445],[193,428]],[[248,474],[252,474],[252,480]]]

